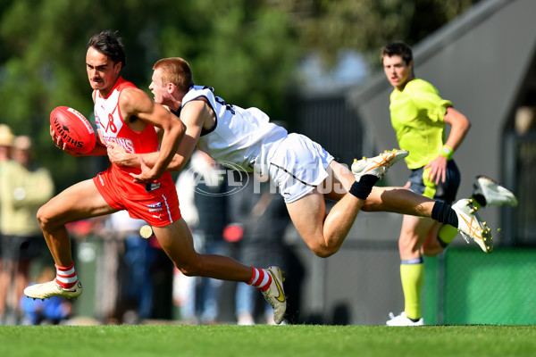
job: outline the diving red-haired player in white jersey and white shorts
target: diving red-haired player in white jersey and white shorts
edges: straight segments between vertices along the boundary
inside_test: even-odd
[[[339,251],[360,210],[431,217],[476,239],[490,239],[490,228],[465,208],[406,189],[374,187],[407,151],[393,150],[355,162],[350,171],[321,145],[287,133],[259,109],[227,104],[212,88],[195,86],[185,60],[164,58],[153,70],[149,89],[155,102],[168,106],[187,128],[168,170],[181,170],[197,147],[223,165],[269,175],[285,197],[298,233],[319,257]],[[146,180],[144,173],[153,165],[155,153],[133,155],[116,145],[108,150],[112,162],[141,167],[142,173],[132,176]],[[327,215],[325,198],[337,201]]]

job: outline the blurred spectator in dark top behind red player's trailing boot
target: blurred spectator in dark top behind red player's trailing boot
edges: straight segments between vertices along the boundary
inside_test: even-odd
[[[241,176],[241,180],[239,180]],[[230,195],[231,219],[242,229],[239,240],[239,260],[245,264],[263,266],[274,262],[281,269],[287,268],[288,249],[283,242],[290,217],[282,195],[267,176],[253,173],[235,177],[244,188]],[[235,228],[235,231],[237,230]],[[239,325],[255,325],[255,288],[238,285],[236,290],[236,314]],[[263,303],[264,321],[273,325],[272,307]]]

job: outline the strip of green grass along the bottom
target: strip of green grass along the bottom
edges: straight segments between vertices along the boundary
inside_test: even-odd
[[[0,327],[0,356],[532,356],[533,326]]]

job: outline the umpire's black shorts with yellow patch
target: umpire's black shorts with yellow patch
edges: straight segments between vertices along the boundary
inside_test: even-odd
[[[412,170],[408,181],[410,182],[409,189],[415,194],[424,195],[444,203],[453,203],[456,199],[458,187],[460,187],[460,170],[456,166],[454,160],[447,163],[447,178],[445,182],[440,182],[439,185],[428,179],[428,171],[424,167]]]

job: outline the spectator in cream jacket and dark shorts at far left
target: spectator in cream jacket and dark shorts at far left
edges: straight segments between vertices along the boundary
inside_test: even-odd
[[[18,302],[29,283],[30,262],[45,249],[36,215],[41,204],[54,195],[50,172],[32,162],[31,140],[13,140],[13,162],[0,171],[0,227],[2,261],[0,302],[18,312]],[[4,310],[4,311],[5,311]],[[16,322],[17,316],[12,317]]]

